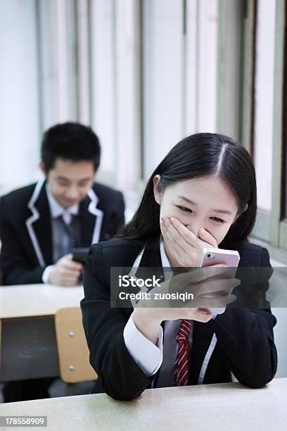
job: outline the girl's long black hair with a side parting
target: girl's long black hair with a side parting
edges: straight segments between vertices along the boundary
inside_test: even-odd
[[[163,191],[177,181],[212,175],[227,186],[236,199],[238,218],[229,228],[225,241],[246,240],[253,229],[256,210],[256,178],[248,151],[228,136],[196,133],[176,144],[153,171],[139,208],[117,237],[148,239],[160,235],[160,206],[153,194],[153,177],[160,175]],[[248,209],[244,211],[245,204]]]

